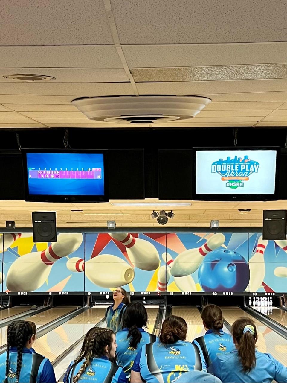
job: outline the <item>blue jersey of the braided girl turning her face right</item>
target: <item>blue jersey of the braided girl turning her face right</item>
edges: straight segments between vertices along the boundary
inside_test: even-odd
[[[65,376],[65,383],[73,383],[73,377],[77,375],[85,359],[76,364]],[[90,366],[81,375],[79,383],[127,383],[126,374],[122,368],[112,363],[108,357],[93,358]]]

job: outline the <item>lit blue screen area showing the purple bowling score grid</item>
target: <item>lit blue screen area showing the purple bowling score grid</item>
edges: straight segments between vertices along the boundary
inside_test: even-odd
[[[103,196],[104,155],[26,153],[29,195]]]

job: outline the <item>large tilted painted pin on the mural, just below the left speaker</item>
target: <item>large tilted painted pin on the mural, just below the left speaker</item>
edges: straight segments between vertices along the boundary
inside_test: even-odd
[[[57,242],[44,251],[22,255],[11,264],[6,285],[10,291],[34,291],[40,288],[49,277],[54,263],[72,254],[83,242],[82,233],[61,233]]]

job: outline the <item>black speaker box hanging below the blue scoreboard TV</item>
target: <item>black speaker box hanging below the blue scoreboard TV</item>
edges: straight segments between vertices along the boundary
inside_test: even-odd
[[[33,212],[32,223],[34,242],[57,242],[55,211]]]

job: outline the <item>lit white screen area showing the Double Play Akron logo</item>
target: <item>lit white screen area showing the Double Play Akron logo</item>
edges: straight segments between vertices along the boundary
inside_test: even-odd
[[[196,194],[274,195],[276,157],[275,148],[197,150]]]

